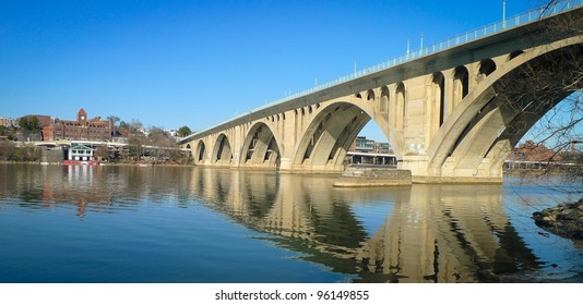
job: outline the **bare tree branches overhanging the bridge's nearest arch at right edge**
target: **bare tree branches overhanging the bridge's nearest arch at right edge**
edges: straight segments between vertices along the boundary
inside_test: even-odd
[[[550,1],[540,17],[563,4],[564,1]],[[536,32],[537,37],[578,37],[583,35],[583,16],[580,10],[563,13],[551,22],[540,23]],[[534,39],[533,37],[524,39]],[[554,151],[539,161],[548,164],[557,161],[569,163],[572,178],[581,181],[583,45],[574,42],[550,48],[552,47],[521,64],[497,85],[496,103],[507,118],[511,118],[500,138],[508,139],[510,146],[514,147],[521,139],[520,136],[530,131],[528,135],[535,144],[530,144],[533,154],[534,149],[540,150],[540,146]],[[551,170],[552,167],[546,169]]]

